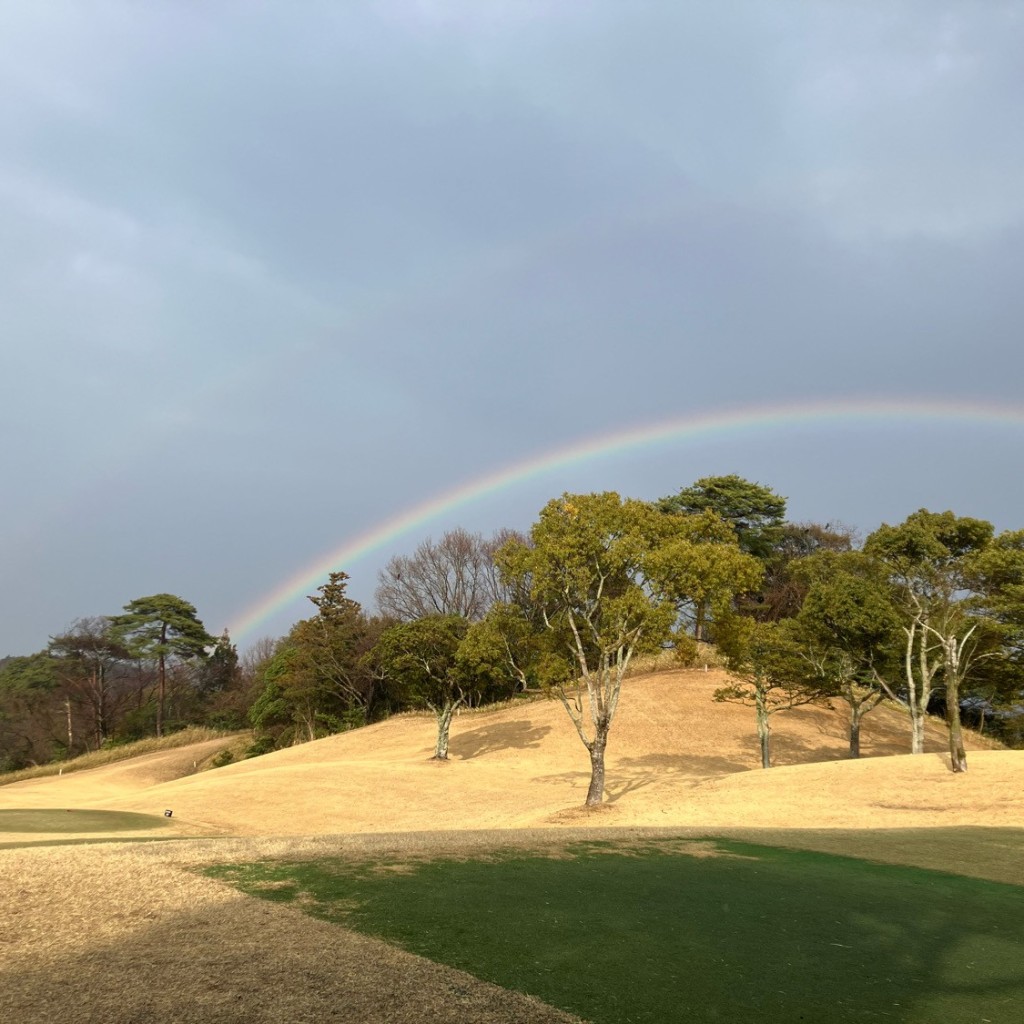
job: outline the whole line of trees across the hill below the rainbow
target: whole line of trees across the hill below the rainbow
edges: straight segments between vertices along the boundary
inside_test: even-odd
[[[732,674],[716,699],[753,709],[766,768],[774,716],[803,703],[847,707],[851,757],[886,699],[912,753],[941,706],[954,771],[965,716],[1020,740],[1024,530],[922,509],[861,543],[785,513],[734,475],[656,502],[562,495],[527,534],[456,529],[394,556],[373,614],[331,573],[309,617],[241,659],[186,601],[139,598],[0,666],[0,768],[186,723],[252,728],[258,754],[414,708],[433,712],[443,759],[459,708],[546,691],[589,754],[596,804],[633,659],[693,664],[708,643]]]

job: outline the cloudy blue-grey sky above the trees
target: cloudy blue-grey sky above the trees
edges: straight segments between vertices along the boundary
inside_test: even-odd
[[[164,592],[279,636],[330,553],[372,608],[390,556],[564,490],[1024,527],[1022,52],[999,0],[8,0],[0,655]],[[977,415],[473,489],[811,402]]]

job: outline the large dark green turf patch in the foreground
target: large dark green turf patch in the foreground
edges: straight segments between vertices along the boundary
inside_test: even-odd
[[[1024,1006],[1024,889],[920,868],[667,840],[212,873],[596,1024],[1011,1024]]]

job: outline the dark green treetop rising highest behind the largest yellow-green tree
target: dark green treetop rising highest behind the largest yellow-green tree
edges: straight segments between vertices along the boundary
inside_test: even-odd
[[[736,531],[741,551],[766,560],[782,537],[785,499],[735,473],[705,476],[678,495],[657,502],[663,512],[693,515],[712,511]]]

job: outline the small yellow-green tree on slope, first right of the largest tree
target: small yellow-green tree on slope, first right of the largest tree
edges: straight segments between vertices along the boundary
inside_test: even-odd
[[[758,623],[732,615],[716,629],[719,650],[736,681],[715,699],[752,707],[757,716],[761,767],[771,767],[771,718],[801,705],[827,701],[828,692],[801,664],[792,622]]]

